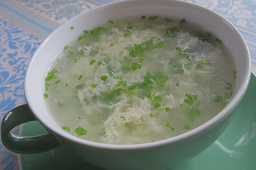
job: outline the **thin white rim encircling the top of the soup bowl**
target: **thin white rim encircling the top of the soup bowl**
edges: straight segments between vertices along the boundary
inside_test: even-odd
[[[71,18],[70,20],[74,20],[74,18],[78,18],[82,15],[86,15],[87,12],[92,12],[95,10],[101,10],[105,7],[109,7],[109,6],[114,6],[114,5],[122,5],[122,3],[124,2],[142,2],[143,0],[122,0],[122,1],[116,1],[116,2],[111,2],[111,3],[107,3],[105,5],[101,5],[98,7],[95,7],[93,9],[90,9],[88,11],[84,11],[81,14],[78,14],[77,16],[74,16],[73,18]],[[161,2],[165,2],[167,0],[161,0]],[[245,49],[245,51],[247,52],[247,58],[250,59],[250,54],[249,54],[249,49],[245,43],[245,40],[243,39],[241,33],[238,31],[238,29],[231,24],[227,19],[225,19],[223,16],[219,15],[218,13],[207,9],[205,7],[196,5],[194,3],[190,3],[190,2],[185,2],[185,1],[180,1],[180,0],[172,0],[175,3],[180,3],[180,4],[186,4],[186,5],[190,5],[193,8],[197,8],[199,10],[203,10],[203,11],[207,11],[209,13],[211,13],[212,15],[214,15],[215,17],[219,17],[220,19],[222,19],[224,22],[226,22],[236,33],[238,33],[239,38],[241,39],[241,41],[243,42],[243,47]],[[153,0],[151,0],[150,2],[153,2]],[[70,20],[68,20],[65,23],[70,22]],[[63,24],[62,24],[63,25]],[[155,141],[155,142],[148,142],[148,143],[139,143],[139,144],[129,144],[129,145],[118,145],[118,144],[107,144],[107,143],[98,143],[98,142],[92,142],[92,141],[87,141],[85,139],[81,139],[78,137],[75,137],[71,134],[66,133],[65,131],[61,130],[61,129],[57,129],[54,128],[49,122],[46,121],[42,121],[41,120],[41,115],[38,115],[36,113],[36,108],[33,106],[33,99],[30,99],[29,94],[27,93],[27,91],[29,91],[29,89],[27,89],[27,79],[28,79],[28,75],[29,75],[29,71],[30,71],[30,67],[33,64],[33,60],[34,58],[37,56],[37,52],[41,49],[41,47],[43,46],[44,43],[46,43],[46,41],[51,37],[51,35],[53,35],[55,32],[60,31],[60,29],[62,28],[62,25],[60,25],[58,28],[56,28],[52,33],[49,34],[49,36],[47,36],[45,38],[45,40],[42,41],[42,43],[39,45],[39,47],[37,48],[37,50],[35,51],[35,53],[33,54],[33,56],[31,57],[29,64],[27,66],[27,70],[26,70],[26,74],[25,74],[25,81],[24,81],[24,90],[25,90],[25,97],[28,103],[29,108],[31,109],[31,111],[34,113],[35,117],[38,119],[38,121],[48,130],[54,132],[55,134],[62,136],[64,138],[66,138],[67,140],[76,142],[76,143],[80,143],[82,145],[87,145],[87,146],[91,146],[91,147],[97,147],[97,148],[105,148],[105,149],[111,149],[111,150],[137,150],[137,149],[145,149],[145,148],[154,148],[154,147],[159,147],[159,146],[164,146],[164,145],[170,145],[170,144],[174,144],[176,142],[180,142],[183,140],[187,140],[190,138],[193,138],[199,134],[201,134],[202,132],[206,132],[212,128],[214,128],[219,122],[221,122],[222,120],[224,120],[227,116],[229,116],[229,114],[237,107],[237,105],[239,104],[239,102],[242,99],[242,96],[245,94],[246,89],[249,85],[249,81],[250,81],[250,77],[251,77],[251,62],[248,66],[248,68],[246,68],[246,81],[243,82],[243,87],[240,87],[237,94],[233,97],[233,99],[230,101],[230,103],[221,111],[219,112],[216,116],[214,116],[213,118],[211,118],[209,121],[205,122],[204,124],[190,130],[187,131],[185,133],[182,133],[180,135],[171,137],[171,138],[167,138],[167,139],[162,139],[159,141]],[[31,101],[32,100],[32,101]]]

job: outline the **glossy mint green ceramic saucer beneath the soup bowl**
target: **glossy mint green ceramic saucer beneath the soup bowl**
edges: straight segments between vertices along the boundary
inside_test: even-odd
[[[248,90],[228,128],[206,151],[172,170],[252,170],[256,167],[256,77],[251,75]],[[45,134],[37,122],[21,127],[20,135]],[[191,146],[193,147],[193,146]],[[88,153],[90,154],[90,153]],[[19,155],[22,170],[100,170],[71,156],[62,147],[33,155]],[[101,169],[102,170],[102,169]]]

